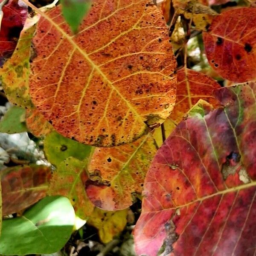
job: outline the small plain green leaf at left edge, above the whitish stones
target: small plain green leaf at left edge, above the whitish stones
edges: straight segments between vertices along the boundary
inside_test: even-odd
[[[4,115],[0,122],[0,132],[8,134],[27,131],[25,123],[25,109],[13,106]]]

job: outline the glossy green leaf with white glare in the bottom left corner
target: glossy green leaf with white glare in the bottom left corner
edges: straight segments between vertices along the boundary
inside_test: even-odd
[[[54,253],[71,236],[75,212],[67,198],[46,197],[24,215],[3,220],[0,254]]]

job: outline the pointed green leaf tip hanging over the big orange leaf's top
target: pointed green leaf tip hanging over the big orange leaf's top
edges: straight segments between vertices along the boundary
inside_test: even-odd
[[[61,0],[62,14],[70,25],[74,34],[78,32],[78,27],[90,9],[89,0]]]

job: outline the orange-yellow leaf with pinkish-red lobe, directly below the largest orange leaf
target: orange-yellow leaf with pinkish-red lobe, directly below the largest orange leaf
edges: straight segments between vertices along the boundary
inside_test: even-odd
[[[151,134],[134,143],[95,148],[88,165],[90,180],[86,188],[90,200],[105,210],[125,209],[141,194],[145,175],[157,145]]]

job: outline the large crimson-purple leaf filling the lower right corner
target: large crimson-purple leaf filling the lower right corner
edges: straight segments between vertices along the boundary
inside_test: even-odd
[[[256,83],[215,90],[225,106],[181,122],[145,178],[138,255],[254,255]]]

